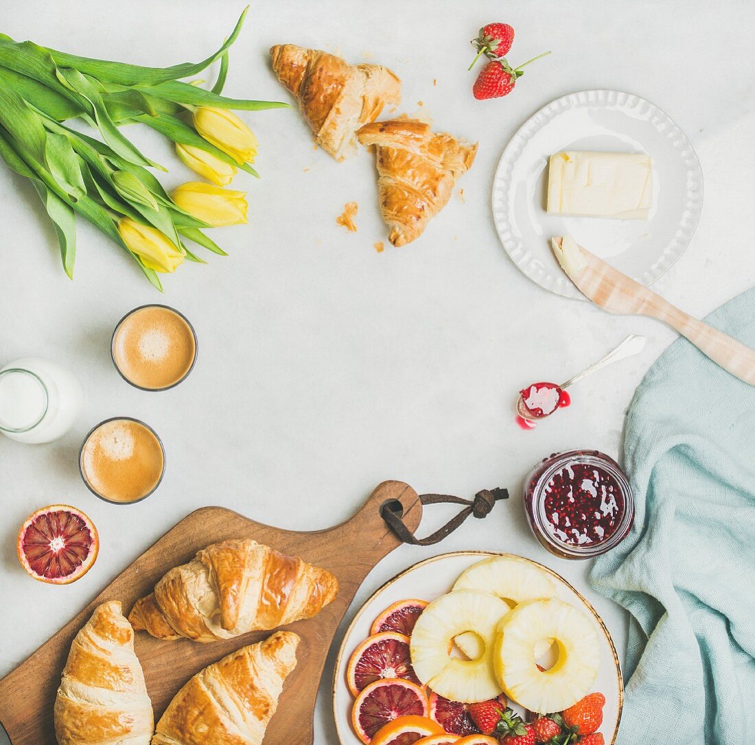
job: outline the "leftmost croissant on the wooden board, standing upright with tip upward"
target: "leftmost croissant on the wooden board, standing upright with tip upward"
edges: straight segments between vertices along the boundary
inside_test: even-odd
[[[60,745],[149,745],[152,703],[119,602],[100,605],[76,634],[54,717]]]

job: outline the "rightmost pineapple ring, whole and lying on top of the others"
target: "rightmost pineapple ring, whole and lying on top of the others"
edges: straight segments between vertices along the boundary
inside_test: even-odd
[[[542,639],[554,639],[559,648],[556,663],[545,671],[535,657]],[[507,615],[493,657],[495,674],[508,697],[530,711],[562,711],[595,682],[598,634],[592,619],[573,605],[558,598],[533,600]]]

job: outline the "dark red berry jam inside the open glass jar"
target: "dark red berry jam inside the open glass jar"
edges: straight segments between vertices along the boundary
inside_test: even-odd
[[[547,531],[572,546],[602,543],[624,516],[624,494],[600,466],[564,466],[543,490]]]

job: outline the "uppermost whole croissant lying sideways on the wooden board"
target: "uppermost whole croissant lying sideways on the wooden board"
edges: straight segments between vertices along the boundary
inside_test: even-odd
[[[224,540],[168,571],[128,620],[157,639],[231,639],[316,616],[338,580],[254,540]]]

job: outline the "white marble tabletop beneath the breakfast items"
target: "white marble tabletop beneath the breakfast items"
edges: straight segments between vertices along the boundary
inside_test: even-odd
[[[7,0],[0,29],[79,54],[168,65],[208,54],[241,9],[219,0]],[[466,72],[468,40],[492,20],[515,26],[512,60],[549,48],[553,55],[533,65],[510,97],[480,103]],[[479,140],[477,162],[460,184],[465,202],[452,199],[416,244],[377,254],[374,242],[386,237],[371,157],[336,164],[313,149],[293,110],[242,114],[261,143],[262,180],[241,174],[233,184],[248,189],[249,224],[216,231],[230,257],[182,266],[164,297],[83,221],[69,282],[31,186],[0,168],[0,362],[57,359],[88,393],[62,441],[30,447],[0,439],[0,674],[192,509],[217,504],[287,528],[324,528],[350,516],[384,479],[461,495],[506,485],[513,499],[442,546],[396,551],[367,578],[349,617],[360,599],[419,559],[505,550],[562,572],[622,648],[623,614],[590,591],[586,564],[541,549],[525,527],[519,493],[533,463],[553,451],[618,453],[633,389],[673,334],[547,294],[520,276],[493,228],[492,175],[516,128],[559,95],[617,88],[657,103],[689,135],[705,176],[698,231],[657,288],[696,314],[713,309],[755,282],[755,79],[741,33],[753,23],[755,6],[733,0],[530,0],[505,10],[493,0],[255,2],[233,47],[228,94],[288,100],[267,63],[267,48],[278,42],[384,63],[404,81],[402,110],[421,110],[438,128]],[[192,176],[165,140],[143,128],[131,134],[170,166],[168,186]],[[352,200],[356,234],[334,222]],[[196,325],[199,362],[177,389],[141,393],[112,368],[109,336],[125,311],[160,300]],[[547,426],[516,429],[511,407],[520,386],[569,377],[630,332],[649,337],[643,355],[575,389],[573,407]],[[94,498],[76,466],[88,429],[117,414],[152,424],[168,452],[161,488],[135,506]],[[14,545],[20,522],[57,501],[85,509],[102,540],[94,569],[60,588],[30,580]],[[424,528],[450,513],[429,512]],[[328,666],[317,743],[336,743],[330,674]]]

